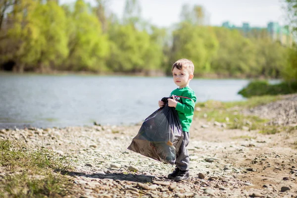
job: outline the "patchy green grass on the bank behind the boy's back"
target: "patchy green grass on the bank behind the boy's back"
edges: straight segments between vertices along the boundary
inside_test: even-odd
[[[207,121],[226,123],[226,126],[229,129],[243,129],[248,127],[249,130],[259,130],[264,134],[275,134],[284,130],[284,128],[266,126],[268,120],[259,118],[258,116],[244,115],[241,111],[245,108],[248,109],[258,105],[267,104],[278,99],[280,99],[279,96],[262,96],[252,97],[245,101],[234,102],[208,100],[196,104],[196,107],[200,107],[201,110],[196,111],[195,116],[205,118],[206,114]]]

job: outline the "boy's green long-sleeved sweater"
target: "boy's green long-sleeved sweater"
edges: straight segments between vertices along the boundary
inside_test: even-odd
[[[196,95],[190,87],[177,88],[171,92],[169,97],[173,95],[190,98],[177,98],[178,102],[175,108],[180,118],[183,131],[189,132],[194,116],[195,102],[197,100]]]

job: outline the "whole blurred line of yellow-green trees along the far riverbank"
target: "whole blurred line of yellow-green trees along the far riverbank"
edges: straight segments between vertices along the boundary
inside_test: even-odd
[[[180,22],[160,28],[142,19],[137,0],[126,0],[122,17],[107,3],[1,0],[2,69],[154,75],[188,58],[196,76],[292,79],[295,47],[272,41],[265,29],[244,36],[205,25],[199,5],[184,5]]]

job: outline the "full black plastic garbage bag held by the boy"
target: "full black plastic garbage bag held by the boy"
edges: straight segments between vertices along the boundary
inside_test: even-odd
[[[184,135],[175,108],[168,106],[168,98],[163,98],[162,101],[164,106],[146,118],[128,149],[174,164]]]

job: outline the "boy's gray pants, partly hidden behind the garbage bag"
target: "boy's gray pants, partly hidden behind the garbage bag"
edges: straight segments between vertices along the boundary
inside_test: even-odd
[[[184,140],[182,141],[181,147],[176,154],[176,167],[180,170],[189,170],[190,157],[188,154],[188,149],[186,148],[190,142],[190,134],[188,132],[183,131]]]

